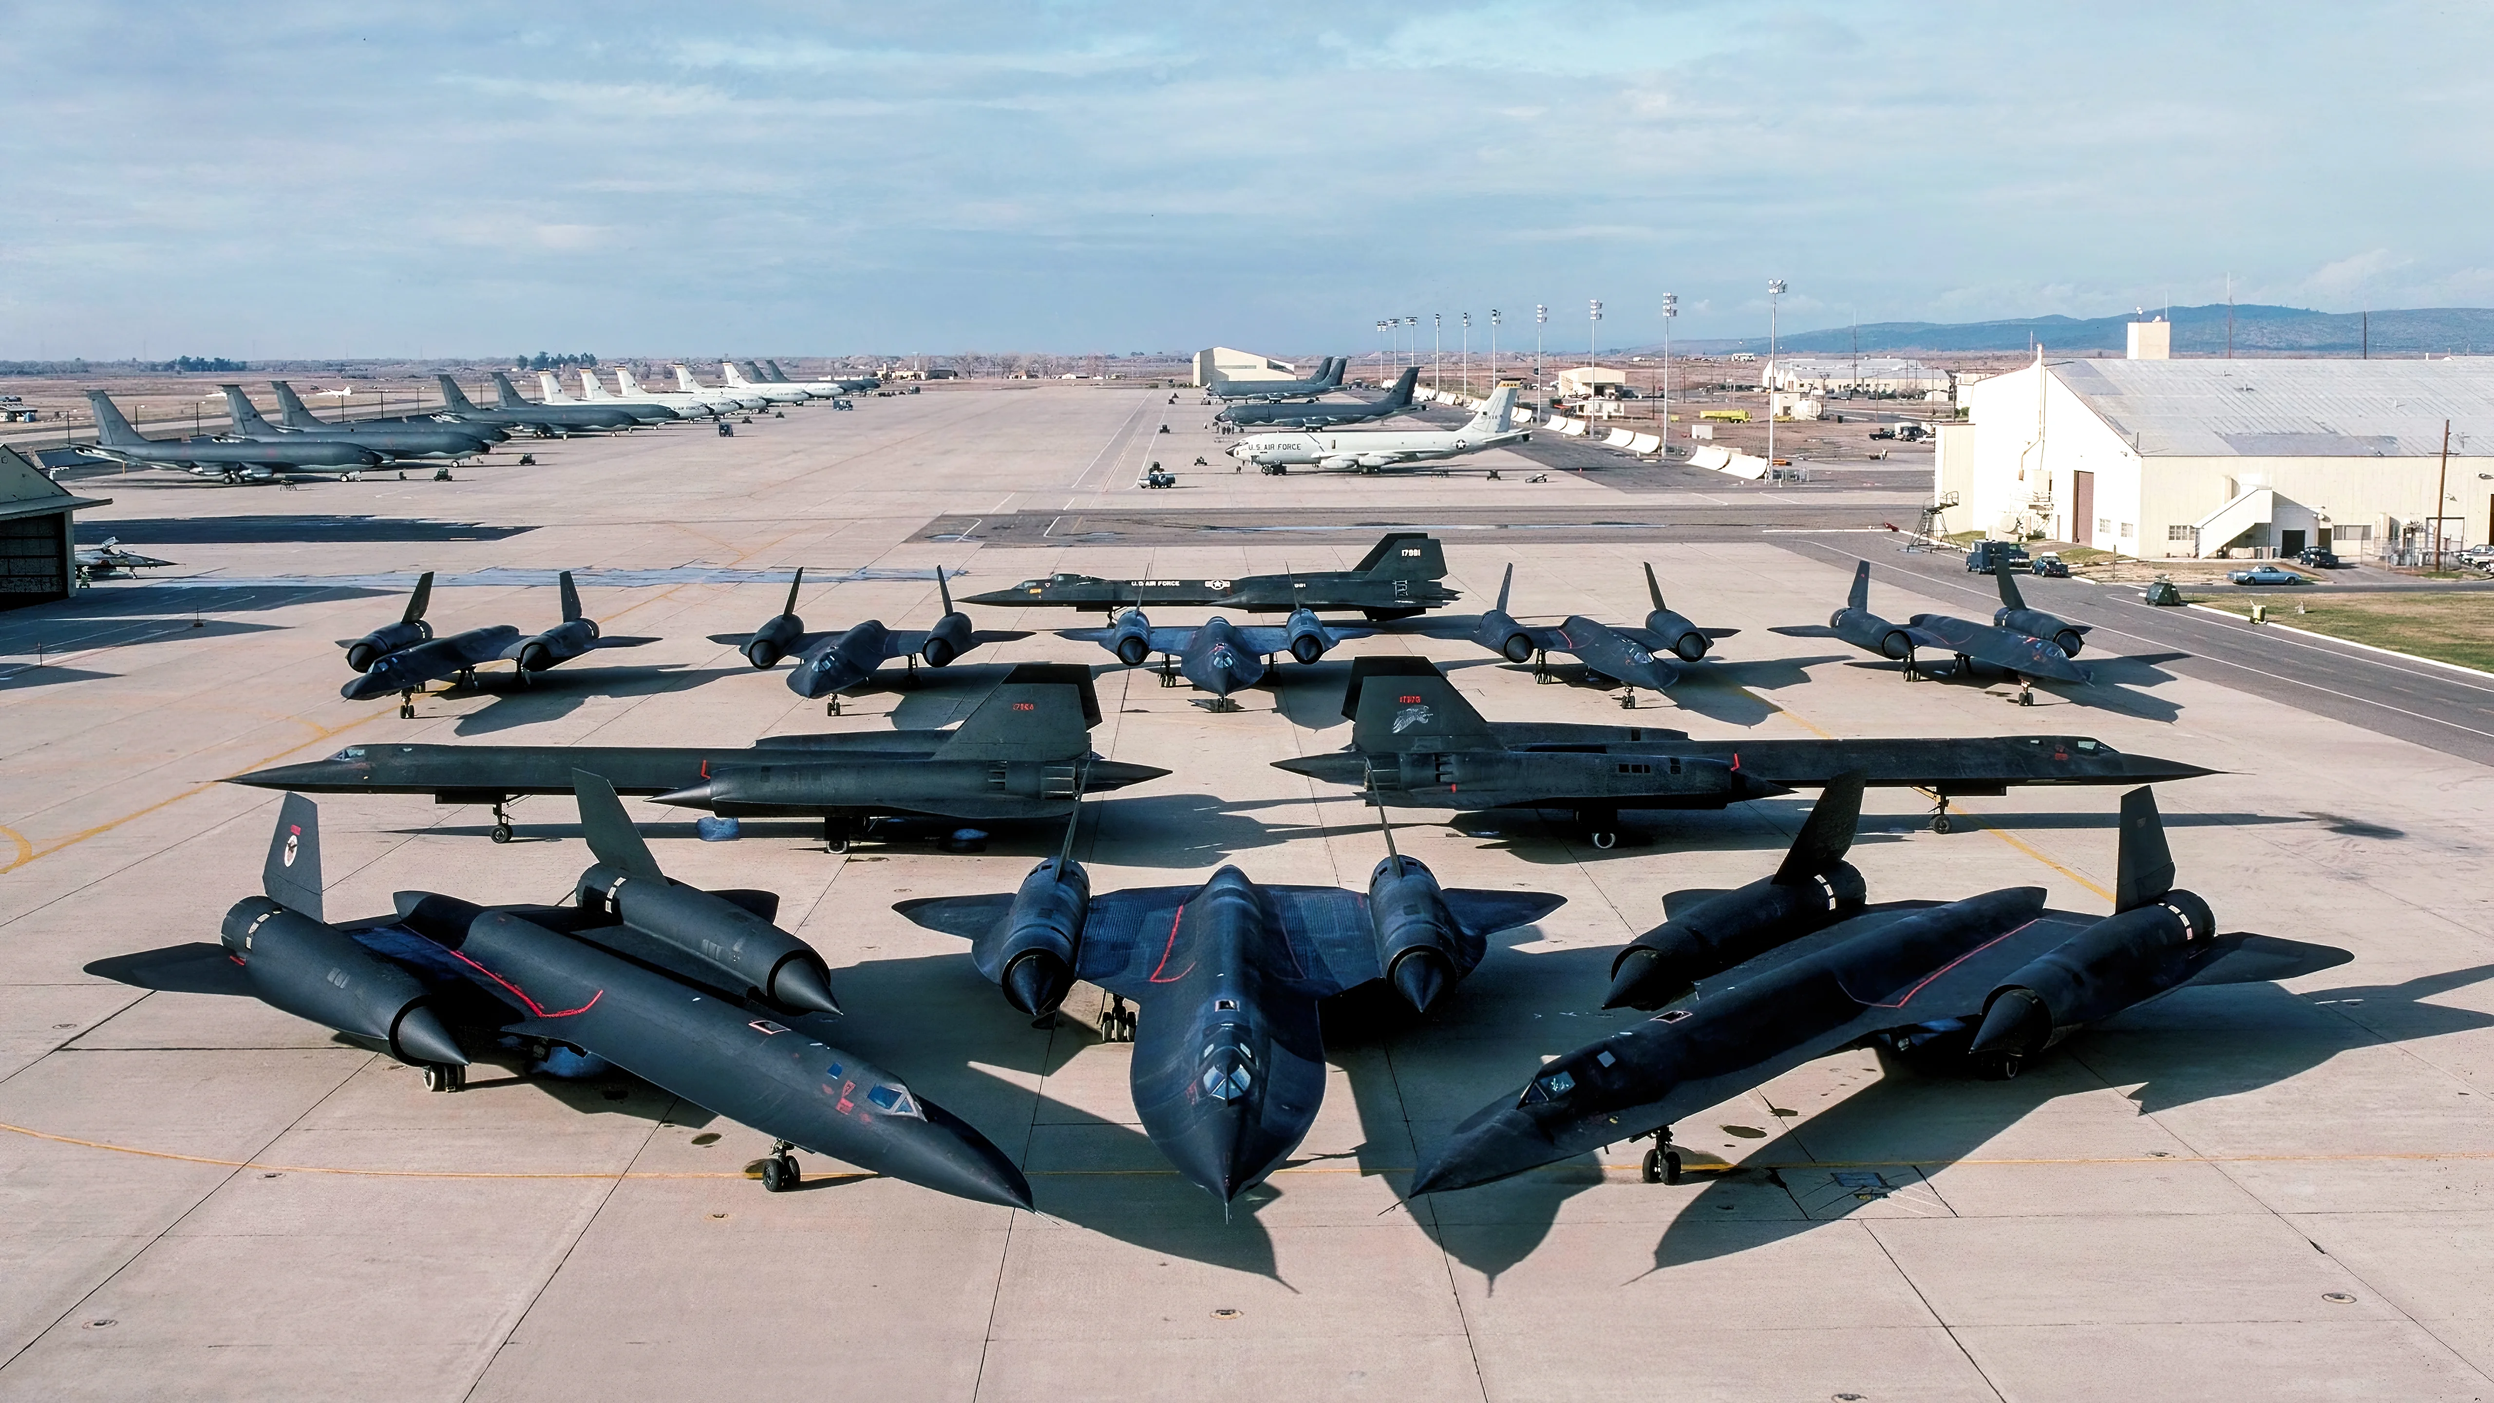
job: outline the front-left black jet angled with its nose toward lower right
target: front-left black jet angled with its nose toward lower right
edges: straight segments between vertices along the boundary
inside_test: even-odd
[[[224,944],[102,959],[90,974],[185,994],[257,996],[421,1066],[429,1091],[466,1083],[469,1046],[524,1039],[611,1061],[773,1136],[763,1188],[798,1183],[791,1148],[975,1198],[1030,1206],[1030,1183],[985,1136],[898,1076],[828,1041],[838,1006],[823,956],[773,926],[771,891],[671,881],[624,804],[584,774],[596,866],[571,906],[476,906],[399,891],[397,914],[322,916],[319,811],[289,794],[264,896],[224,914]]]

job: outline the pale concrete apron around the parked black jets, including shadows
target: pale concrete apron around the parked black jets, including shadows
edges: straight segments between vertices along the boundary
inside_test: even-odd
[[[2462,746],[2245,667],[2195,667],[2145,612],[2130,637],[2097,637],[2097,687],[2053,687],[2033,709],[2003,704],[2005,687],[1903,687],[1828,639],[1771,634],[1826,619],[1853,552],[1880,564],[1888,614],[1975,612],[1888,569],[1895,537],[1878,524],[1910,512],[1910,489],[1838,472],[1808,489],[1631,492],[1601,469],[1526,482],[1521,454],[1501,482],[1272,479],[1230,472],[1200,419],[1150,389],[945,387],[733,439],[551,444],[534,469],[459,482],[110,479],[115,504],[90,524],[167,547],[177,529],[167,554],[185,569],[0,617],[0,1396],[2494,1393],[2494,939],[2474,881],[2494,791]],[[1197,454],[1217,467],[1180,467]],[[1135,489],[1152,459],[1180,469],[1175,492]],[[1766,529],[1738,527],[1741,507]],[[1157,527],[1060,527],[1120,514]],[[1190,514],[1220,529],[1170,529]],[[761,1136],[631,1078],[479,1066],[466,1093],[426,1096],[414,1071],[272,1009],[82,974],[212,939],[252,891],[277,799],[217,784],[227,774],[397,739],[933,726],[1008,662],[1105,662],[1047,632],[1075,617],[985,609],[983,627],[1033,637],[826,719],[703,642],[778,607],[783,584],[756,574],[806,564],[818,627],[923,627],[933,567],[965,572],[965,589],[1057,569],[1339,569],[1379,524],[1439,527],[1459,609],[1486,604],[1514,562],[1519,614],[1636,617],[1651,559],[1676,609],[1741,629],[1671,702],[1644,699],[1651,724],[2078,734],[2220,769],[2160,791],[2182,881],[2222,929],[2357,959],[2287,989],[2175,994],[2015,1081],[1873,1053],[1808,1063],[1683,1123],[1693,1168],[1726,1168],[1681,1186],[1641,1183],[1616,1146],[1404,1201],[1422,1146],[1541,1056],[1636,1016],[1591,1011],[1611,951],[1661,919],[1666,891],[1768,871],[1808,794],[1636,819],[1611,851],[1559,821],[1402,814],[1399,841],[1449,886],[1569,901],[1504,936],[1424,1021],[1329,1029],[1314,1133],[1227,1223],[1135,1128],[1130,1046],[1100,1041],[1080,999],[1033,1029],[963,941],[890,911],[1010,889],[1055,849],[1052,824],[1003,826],[978,854],[903,839],[833,856],[806,824],[696,844],[686,814],[631,806],[671,874],[778,891],[783,924],[833,969],[850,1046],[983,1126],[1030,1173],[1038,1213],[828,1163],[766,1196],[743,1173]],[[531,689],[489,674],[421,699],[414,721],[337,699],[334,639],[394,617],[416,572],[441,572],[444,624],[539,627],[551,589],[454,577],[556,567],[581,572],[604,627],[663,642]],[[2087,587],[2060,589],[2075,607]],[[1367,652],[1442,659],[1494,719],[1624,716],[1609,692],[1424,637],[1284,664],[1240,714],[1107,667],[1100,754],[1172,774],[1085,806],[1095,881],[1235,861],[1259,881],[1357,884],[1382,856],[1369,811],[1267,761],[1344,744],[1344,659]],[[2339,657],[2364,687],[2367,664]],[[2494,731],[2482,694],[2454,704],[2442,729]],[[339,914],[409,886],[551,901],[586,861],[566,799],[516,806],[509,846],[486,841],[481,809],[342,796],[322,811]],[[1963,814],[1938,836],[1918,796],[1873,791],[1853,849],[1873,896],[2038,884],[2055,906],[2107,906],[2112,791],[2028,789]]]

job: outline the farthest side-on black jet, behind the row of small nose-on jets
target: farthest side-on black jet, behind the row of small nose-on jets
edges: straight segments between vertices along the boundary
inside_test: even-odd
[[[1369,619],[1409,619],[1461,599],[1447,589],[1447,552],[1429,532],[1387,532],[1352,569],[1314,574],[1247,574],[1240,579],[1100,579],[1095,574],[1050,574],[1025,579],[1013,589],[973,594],[963,604],[1057,607],[1115,614],[1152,604],[1242,609],[1247,614],[1294,614],[1299,609],[1349,612]]]

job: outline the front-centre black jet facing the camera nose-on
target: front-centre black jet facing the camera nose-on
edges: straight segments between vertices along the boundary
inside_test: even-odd
[[[970,941],[978,971],[1023,1014],[1045,1016],[1077,979],[1117,999],[1115,1036],[1142,1133],[1190,1183],[1230,1201],[1272,1173],[1317,1121],[1324,1044],[1317,1004],[1387,981],[1427,1011],[1471,974],[1486,936],[1559,909],[1546,891],[1442,891],[1414,859],[1387,859],[1369,891],[1257,886],[1222,866],[1202,886],[1092,896],[1065,851],[1020,891],[925,896],[893,909]],[[1125,1011],[1132,999],[1135,1011]]]

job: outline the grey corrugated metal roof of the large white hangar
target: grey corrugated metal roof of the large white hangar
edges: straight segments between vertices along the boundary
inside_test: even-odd
[[[2048,362],[2140,457],[2494,454],[2484,359]]]

